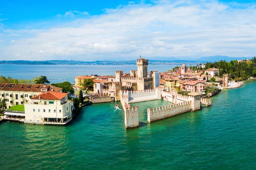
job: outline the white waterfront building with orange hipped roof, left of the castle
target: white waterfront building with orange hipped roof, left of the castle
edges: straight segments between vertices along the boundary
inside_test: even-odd
[[[72,119],[72,106],[67,93],[44,92],[32,97],[24,106],[24,123],[66,124]]]

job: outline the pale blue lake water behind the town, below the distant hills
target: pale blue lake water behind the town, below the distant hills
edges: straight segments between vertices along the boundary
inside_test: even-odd
[[[177,65],[148,65],[148,71],[167,71]],[[0,76],[15,79],[32,79],[33,77],[46,76],[51,83],[69,81],[75,83],[79,75],[115,75],[115,71],[130,73],[137,70],[137,65],[0,65]]]

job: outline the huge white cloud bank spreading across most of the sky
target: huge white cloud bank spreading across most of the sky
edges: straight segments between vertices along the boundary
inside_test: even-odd
[[[244,6],[193,0],[130,3],[49,29],[5,30],[22,38],[1,49],[10,57],[19,51],[26,59],[38,60],[250,57],[256,54],[256,17],[252,17],[256,9]],[[79,14],[68,11],[64,15]]]

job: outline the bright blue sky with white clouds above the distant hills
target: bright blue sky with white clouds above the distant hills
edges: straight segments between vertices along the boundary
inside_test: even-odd
[[[0,0],[0,60],[256,54],[256,0]]]

